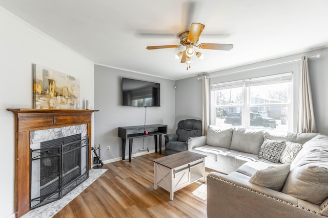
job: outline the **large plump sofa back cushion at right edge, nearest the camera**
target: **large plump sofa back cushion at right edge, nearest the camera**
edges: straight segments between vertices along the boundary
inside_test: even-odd
[[[328,162],[295,167],[286,179],[282,192],[321,204],[328,197]]]

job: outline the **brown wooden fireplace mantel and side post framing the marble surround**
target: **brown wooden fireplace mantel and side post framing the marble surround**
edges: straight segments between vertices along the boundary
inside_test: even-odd
[[[87,125],[91,152],[92,113],[98,110],[57,110],[8,108],[15,115],[15,213],[20,217],[30,210],[30,132],[35,130]],[[91,155],[89,155],[91,167]]]

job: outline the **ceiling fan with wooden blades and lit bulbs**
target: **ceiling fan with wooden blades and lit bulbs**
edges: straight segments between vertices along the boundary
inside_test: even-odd
[[[186,50],[183,52],[178,52],[175,58],[179,60],[181,58],[181,63],[187,63],[187,70],[191,65],[192,56],[196,55],[200,60],[203,59],[204,55],[200,52],[196,52],[194,47],[198,49],[211,49],[211,50],[223,50],[229,51],[233,48],[233,44],[217,44],[217,43],[201,43],[198,44],[198,39],[201,32],[204,30],[205,25],[201,23],[191,23],[190,30],[180,34],[180,44],[181,45],[157,45],[157,46],[147,46],[148,50],[153,49],[169,49],[173,47],[186,46]]]

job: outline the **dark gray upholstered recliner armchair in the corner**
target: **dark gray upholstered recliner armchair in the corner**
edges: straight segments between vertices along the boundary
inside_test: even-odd
[[[164,135],[166,155],[187,151],[188,138],[201,136],[201,135],[202,135],[201,120],[196,120],[196,119],[180,120],[175,134]]]

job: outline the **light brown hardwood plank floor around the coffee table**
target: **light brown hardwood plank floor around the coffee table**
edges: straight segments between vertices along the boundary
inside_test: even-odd
[[[53,217],[207,217],[206,201],[192,194],[201,182],[174,192],[173,201],[168,191],[154,190],[152,160],[161,156],[105,164],[108,170]]]

